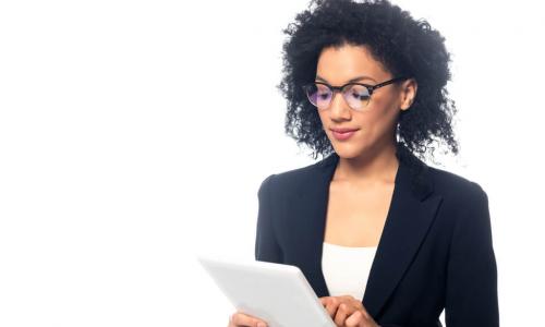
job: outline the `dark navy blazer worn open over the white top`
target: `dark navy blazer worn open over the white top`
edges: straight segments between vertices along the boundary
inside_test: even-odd
[[[404,146],[362,300],[384,327],[499,326],[497,268],[483,189],[428,167]],[[258,191],[257,261],[298,266],[329,296],[322,247],[339,156],[267,177]]]

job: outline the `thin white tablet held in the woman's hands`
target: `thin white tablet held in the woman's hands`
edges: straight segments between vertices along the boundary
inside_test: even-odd
[[[299,267],[197,257],[234,307],[269,327],[335,327]]]

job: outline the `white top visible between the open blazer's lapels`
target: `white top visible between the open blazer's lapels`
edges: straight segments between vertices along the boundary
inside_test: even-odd
[[[324,242],[322,270],[330,296],[363,300],[377,246],[343,246]]]

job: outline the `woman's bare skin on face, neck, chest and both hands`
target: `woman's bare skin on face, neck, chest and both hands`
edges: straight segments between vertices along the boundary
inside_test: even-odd
[[[348,81],[375,85],[392,77],[365,46],[344,44],[325,48],[318,58],[316,81],[341,86]],[[339,155],[339,164],[329,185],[325,241],[344,246],[377,246],[383,232],[399,167],[396,134],[400,110],[409,110],[416,96],[413,78],[375,89],[368,110],[352,110],[337,93],[329,108],[318,114]],[[350,138],[337,140],[331,128],[359,129]],[[376,327],[362,302],[351,295],[319,298],[339,327]],[[228,327],[259,327],[263,320],[237,312]],[[264,325],[266,326],[266,325]]]

